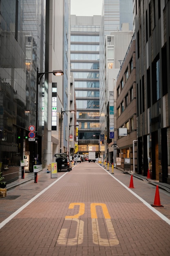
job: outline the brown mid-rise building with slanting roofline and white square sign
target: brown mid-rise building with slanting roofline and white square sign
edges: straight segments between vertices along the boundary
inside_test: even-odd
[[[132,38],[117,76],[117,162],[118,167],[137,172],[136,56]],[[128,163],[127,163],[128,162]]]

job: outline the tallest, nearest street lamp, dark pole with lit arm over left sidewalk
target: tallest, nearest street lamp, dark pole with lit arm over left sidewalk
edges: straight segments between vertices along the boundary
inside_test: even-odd
[[[62,76],[64,72],[62,70],[53,70],[53,72],[38,72],[37,67],[37,90],[36,90],[36,121],[35,121],[35,138],[37,141],[35,141],[35,153],[36,153],[36,159],[38,159],[38,85],[40,84],[40,81],[44,74],[50,74],[53,73],[54,76]],[[36,161],[37,163],[37,161]]]

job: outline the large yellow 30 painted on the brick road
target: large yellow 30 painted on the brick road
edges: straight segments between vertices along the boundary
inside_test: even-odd
[[[60,234],[57,238],[57,244],[59,245],[80,245],[83,243],[83,238],[84,238],[84,221],[79,220],[79,216],[82,216],[85,212],[85,204],[84,203],[71,203],[68,207],[68,209],[74,209],[76,205],[79,205],[79,212],[73,216],[65,216],[65,220],[70,221],[70,225],[68,228],[62,228],[60,230]],[[100,235],[100,229],[99,229],[99,222],[97,219],[97,212],[96,212],[96,207],[102,207],[102,211],[104,214],[104,219],[103,222],[105,222],[106,226],[106,233],[107,237],[102,238]],[[68,238],[69,233],[73,233],[72,230],[72,224],[74,223],[73,221],[77,222],[77,227],[75,229],[75,237],[74,238]],[[113,227],[113,223],[110,218],[110,214],[108,213],[108,209],[106,204],[102,203],[91,203],[91,222],[92,222],[92,236],[93,236],[93,243],[95,245],[100,245],[100,246],[113,246],[113,245],[118,245],[119,240],[116,236],[115,229]],[[69,222],[68,222],[69,223]],[[74,227],[75,225],[73,225]]]

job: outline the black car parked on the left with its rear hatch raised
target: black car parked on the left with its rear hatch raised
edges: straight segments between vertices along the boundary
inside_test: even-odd
[[[72,170],[71,160],[66,153],[57,153],[54,156],[55,156],[55,161],[57,162],[57,171]]]

